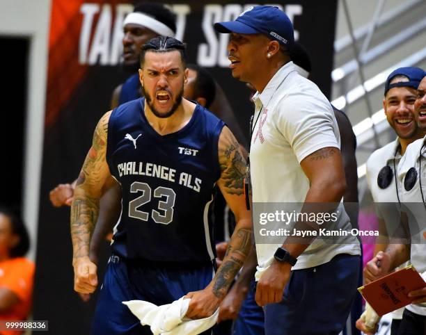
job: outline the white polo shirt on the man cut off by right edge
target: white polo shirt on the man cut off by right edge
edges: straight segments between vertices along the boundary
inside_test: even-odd
[[[418,272],[423,273],[423,279],[426,280],[426,209],[422,202],[420,193],[419,176],[421,170],[421,181],[423,195],[426,196],[426,136],[423,139],[416,140],[407,147],[407,151],[398,165],[398,182],[402,185],[401,202],[407,206],[407,215],[409,217],[409,226],[411,233],[411,263]],[[422,152],[420,149],[423,147]],[[420,169],[420,154],[422,155]],[[415,168],[417,172],[416,183],[411,190],[404,188],[404,179],[410,168]],[[425,199],[423,199],[426,201]],[[411,304],[407,306],[409,311],[426,316],[426,303]]]

